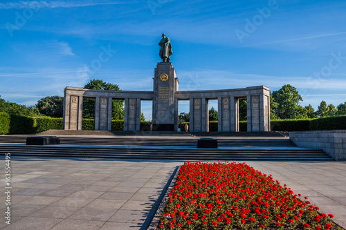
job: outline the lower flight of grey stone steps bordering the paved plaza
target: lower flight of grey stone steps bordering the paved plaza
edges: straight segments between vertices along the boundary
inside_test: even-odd
[[[184,149],[184,148],[109,148],[94,146],[1,146],[0,153],[12,156],[101,157],[160,160],[331,160],[314,149]]]

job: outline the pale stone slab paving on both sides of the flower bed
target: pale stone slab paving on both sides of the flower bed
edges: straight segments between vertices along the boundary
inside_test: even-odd
[[[0,229],[141,229],[183,162],[12,157],[12,224]],[[246,162],[346,227],[346,162]],[[6,211],[1,164],[1,216]],[[143,229],[143,228],[142,228]]]

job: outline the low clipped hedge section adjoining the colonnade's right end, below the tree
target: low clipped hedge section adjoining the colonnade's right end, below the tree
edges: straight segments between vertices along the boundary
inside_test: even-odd
[[[277,119],[271,121],[271,131],[309,131],[310,119]]]

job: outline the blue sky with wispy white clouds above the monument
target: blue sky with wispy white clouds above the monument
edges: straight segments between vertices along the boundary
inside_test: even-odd
[[[90,79],[152,90],[165,32],[180,90],[291,84],[302,106],[336,106],[346,102],[345,12],[341,0],[1,1],[0,95],[30,106]]]

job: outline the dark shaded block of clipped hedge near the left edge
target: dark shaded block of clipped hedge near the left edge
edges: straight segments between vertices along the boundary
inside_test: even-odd
[[[10,134],[36,133],[35,119],[21,115],[10,115]]]

